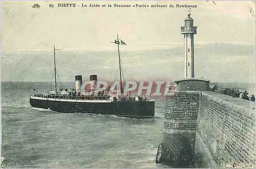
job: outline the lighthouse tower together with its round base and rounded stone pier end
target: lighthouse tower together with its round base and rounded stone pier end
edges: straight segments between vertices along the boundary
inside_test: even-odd
[[[190,12],[185,18],[185,26],[181,27],[184,36],[184,75],[182,79],[175,80],[174,95],[166,97],[164,109],[164,132],[162,142],[162,154],[160,161],[173,167],[188,168],[194,166],[196,147],[195,140],[200,140],[197,134],[197,115],[199,110],[200,94],[209,91],[209,80],[195,78],[194,69],[194,34],[197,27]],[[197,59],[203,60],[200,55]],[[200,71],[198,72],[200,73]],[[200,153],[199,153],[200,154]]]

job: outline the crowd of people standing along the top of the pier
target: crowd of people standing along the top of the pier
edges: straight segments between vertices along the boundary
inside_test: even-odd
[[[255,96],[254,94],[249,94],[247,92],[247,90],[245,91],[239,91],[239,89],[230,89],[230,88],[225,88],[224,90],[219,90],[217,85],[213,86],[211,85],[210,86],[210,91],[217,91],[222,93],[222,94],[225,94],[225,95],[230,95],[232,96],[233,98],[240,98],[240,99],[244,99],[244,100],[248,100],[248,101],[251,101],[251,102],[255,102]]]

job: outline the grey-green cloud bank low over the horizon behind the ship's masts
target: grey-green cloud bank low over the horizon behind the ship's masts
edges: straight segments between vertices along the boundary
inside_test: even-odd
[[[253,82],[254,46],[238,43],[201,43],[195,49],[196,77],[211,81]],[[176,80],[184,74],[183,46],[170,49],[121,51],[123,73],[132,80]],[[51,81],[53,53],[4,53],[2,81]],[[117,51],[81,51],[56,54],[61,81],[74,76],[114,79],[118,69]],[[10,79],[11,77],[11,79]],[[229,78],[227,78],[229,77]],[[118,78],[118,77],[117,77]]]

